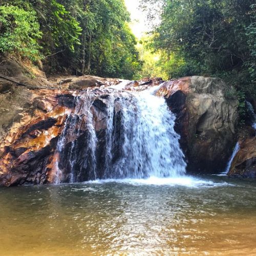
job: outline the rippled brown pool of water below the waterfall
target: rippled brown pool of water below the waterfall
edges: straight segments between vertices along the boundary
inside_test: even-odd
[[[256,254],[253,181],[12,187],[0,202],[1,255]]]

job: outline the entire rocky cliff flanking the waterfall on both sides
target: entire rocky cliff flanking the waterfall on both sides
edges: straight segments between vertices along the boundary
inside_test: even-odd
[[[15,69],[10,68],[13,65]],[[60,178],[56,163],[61,159],[65,169],[70,164],[66,159],[73,154],[74,145],[78,154],[86,156],[88,136],[92,134],[87,123],[89,116],[84,116],[80,108],[88,108],[88,115],[92,115],[90,118],[99,141],[97,176],[101,177],[101,163],[104,162],[101,156],[105,154],[107,143],[107,106],[113,104],[113,121],[118,127],[120,94],[129,101],[132,98],[129,91],[141,91],[159,84],[157,95],[165,97],[170,110],[177,116],[176,131],[181,135],[188,170],[220,172],[236,142],[238,101],[228,96],[230,88],[219,78],[194,76],[164,83],[160,78],[144,79],[126,82],[124,91],[113,92],[109,86],[119,84],[118,79],[72,76],[53,77],[50,82],[44,82],[44,77],[28,78],[26,72],[12,62],[5,63],[2,73],[18,83],[0,79],[0,185],[52,183]],[[20,83],[32,88],[20,86]],[[84,100],[80,101],[82,95]],[[113,99],[110,95],[114,95],[113,102],[110,102]],[[73,132],[69,129],[71,124],[76,127]],[[65,142],[61,150],[57,150],[63,133],[66,133]],[[117,128],[115,134],[120,137],[119,133]],[[117,143],[117,157],[120,147]],[[90,159],[78,162],[76,169],[83,170],[81,180],[90,179],[91,162]],[[68,173],[62,175],[62,181],[70,180]]]

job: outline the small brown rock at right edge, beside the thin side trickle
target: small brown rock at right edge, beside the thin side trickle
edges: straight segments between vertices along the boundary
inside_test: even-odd
[[[239,142],[240,150],[234,157],[228,176],[256,178],[256,137]]]

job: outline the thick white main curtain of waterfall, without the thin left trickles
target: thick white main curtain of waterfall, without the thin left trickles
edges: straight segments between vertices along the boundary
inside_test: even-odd
[[[154,96],[153,91],[134,93],[132,99],[127,99],[125,94],[118,103],[121,109],[120,127],[113,122],[114,100],[110,99],[104,179],[185,174],[186,163],[179,146],[179,135],[174,131],[175,115],[167,109],[165,100]],[[114,138],[118,129],[121,138]],[[111,164],[120,139],[121,157]]]

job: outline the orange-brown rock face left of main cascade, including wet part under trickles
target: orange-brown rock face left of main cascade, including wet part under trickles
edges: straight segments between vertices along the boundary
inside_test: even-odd
[[[110,97],[116,100],[112,100]],[[114,95],[114,96],[113,96]],[[127,100],[131,97],[126,95]],[[76,181],[92,178],[92,159],[89,156],[91,130],[96,132],[97,156],[106,150],[107,106],[113,104],[116,122],[120,105],[119,92],[91,89],[76,92],[65,90],[40,90],[31,93],[27,108],[20,108],[22,116],[3,136],[0,145],[0,185],[44,184],[70,181],[71,159],[76,155]],[[117,126],[118,127],[118,126]],[[3,130],[3,129],[2,129]],[[62,137],[61,137],[62,136]],[[97,161],[97,177],[101,177],[101,162]],[[64,172],[58,177],[58,169]]]

